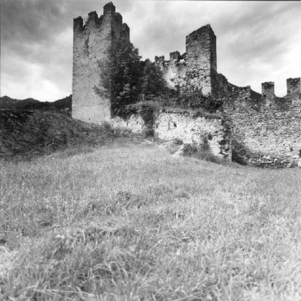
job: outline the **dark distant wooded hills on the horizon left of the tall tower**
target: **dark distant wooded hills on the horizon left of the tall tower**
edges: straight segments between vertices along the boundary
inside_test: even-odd
[[[34,98],[16,99],[9,96],[0,97],[0,109],[41,110],[51,112],[71,113],[72,95],[58,99],[55,102],[40,102]]]

